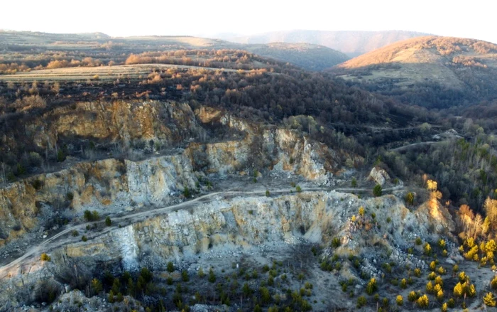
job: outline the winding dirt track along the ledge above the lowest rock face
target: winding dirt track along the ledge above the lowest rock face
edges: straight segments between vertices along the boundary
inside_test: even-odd
[[[404,183],[402,181],[399,181],[398,185],[395,185],[391,188],[384,188],[383,192],[391,192],[394,190],[400,190],[404,187]],[[337,192],[369,192],[371,191],[370,188],[302,188],[302,192],[312,192],[312,191],[330,191],[330,190],[335,190]],[[164,213],[170,213],[173,211],[181,210],[181,209],[187,209],[187,208],[192,208],[195,207],[196,203],[199,202],[211,202],[213,200],[216,200],[217,196],[234,196],[234,195],[264,195],[266,193],[266,190],[255,190],[255,191],[241,191],[241,190],[228,190],[225,192],[214,192],[214,193],[209,193],[206,195],[202,195],[198,198],[188,200],[179,204],[175,205],[170,205],[166,206],[163,208],[157,208],[154,210],[146,210],[142,211],[139,213],[131,213],[129,215],[124,215],[121,217],[113,217],[112,222],[114,225],[111,227],[106,227],[104,230],[95,232],[93,233],[92,237],[97,237],[99,235],[103,235],[104,233],[110,232],[111,230],[115,229],[119,222],[129,222],[134,223],[134,222],[139,222],[141,220],[144,220],[148,217],[155,217],[156,215],[162,215]],[[270,190],[271,194],[285,194],[285,193],[290,193],[290,190],[285,189],[275,189],[275,190]],[[97,221],[98,222],[98,221]],[[82,230],[87,227],[87,225],[93,225],[95,222],[86,222],[82,223],[80,225],[73,225],[71,227],[67,227],[65,230],[62,230],[58,232],[57,234],[53,235],[52,237],[47,238],[37,246],[31,247],[28,249],[21,257],[18,257],[17,259],[13,260],[9,264],[4,265],[3,267],[0,267],[0,279],[4,279],[8,272],[11,271],[14,267],[17,265],[22,264],[23,260],[28,259],[28,257],[31,257],[36,254],[40,254],[40,252],[48,252],[50,250],[53,250],[55,248],[61,247],[64,244],[70,243],[70,242],[76,242],[79,241],[79,237],[72,237],[70,240],[59,240],[60,237],[70,234],[74,230]]]

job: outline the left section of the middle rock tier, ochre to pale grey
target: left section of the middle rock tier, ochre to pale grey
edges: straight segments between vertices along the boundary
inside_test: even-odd
[[[0,188],[0,244],[26,231],[53,226],[55,217],[102,215],[158,205],[195,188],[190,159],[180,154],[146,161],[105,159],[33,176]]]

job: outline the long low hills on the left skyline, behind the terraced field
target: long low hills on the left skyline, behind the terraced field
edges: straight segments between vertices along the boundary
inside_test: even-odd
[[[104,33],[38,33],[0,31],[1,65],[24,63],[28,68],[45,67],[51,60],[100,60],[97,65],[124,63],[130,53],[163,53],[178,50],[244,50],[263,58],[273,58],[307,70],[324,70],[348,59],[336,50],[307,43],[279,43],[271,45],[240,44],[219,39],[191,36],[134,36],[112,38]],[[27,68],[21,69],[26,70]],[[0,73],[2,73],[0,68]]]

